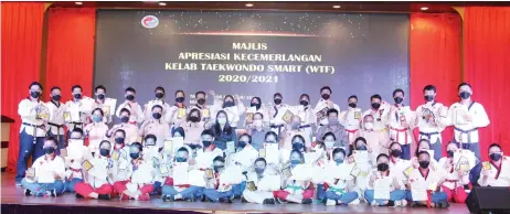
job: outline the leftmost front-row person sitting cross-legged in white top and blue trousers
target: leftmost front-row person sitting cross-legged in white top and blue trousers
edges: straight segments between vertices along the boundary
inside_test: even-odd
[[[24,195],[56,196],[64,192],[64,160],[56,156],[57,142],[54,137],[44,139],[44,156],[33,161],[32,168],[25,172],[21,185],[25,189]]]

